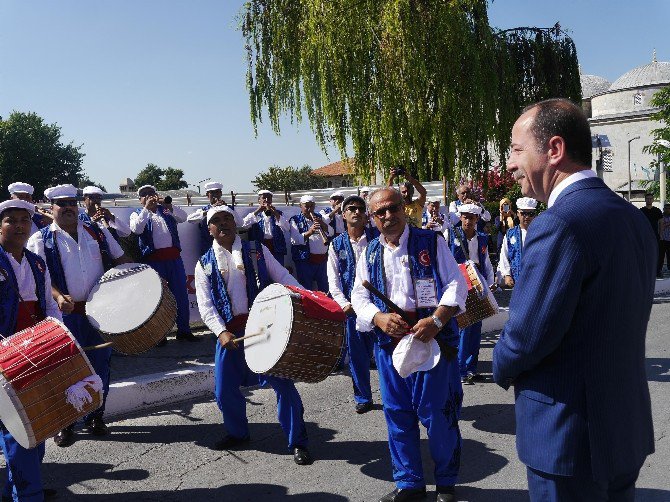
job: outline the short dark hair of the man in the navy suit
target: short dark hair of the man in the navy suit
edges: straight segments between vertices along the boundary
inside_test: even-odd
[[[552,136],[560,136],[570,159],[591,168],[591,128],[579,106],[568,99],[555,98],[529,105],[523,113],[531,110],[537,110],[530,131],[538,148],[543,149]]]

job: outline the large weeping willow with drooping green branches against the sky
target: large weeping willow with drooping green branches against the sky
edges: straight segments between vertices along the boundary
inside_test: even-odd
[[[473,176],[502,157],[525,104],[581,99],[572,40],[497,31],[486,0],[249,0],[241,14],[256,128],[306,113],[326,151],[351,141],[357,174],[404,165]]]

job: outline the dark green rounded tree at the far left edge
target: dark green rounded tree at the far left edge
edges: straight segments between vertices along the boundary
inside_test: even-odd
[[[0,118],[0,186],[3,198],[7,185],[15,181],[30,183],[39,199],[44,189],[61,183],[77,186],[84,176],[81,146],[64,144],[61,129],[46,124],[35,113],[12,112]]]

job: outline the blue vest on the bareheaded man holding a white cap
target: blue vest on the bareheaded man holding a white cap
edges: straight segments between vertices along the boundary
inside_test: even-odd
[[[440,277],[439,267],[437,264],[437,239],[442,237],[432,230],[425,230],[421,228],[409,227],[409,238],[407,240],[407,256],[409,258],[409,267],[412,280],[416,279],[435,279],[435,286],[437,289],[438,300],[444,293],[444,284]],[[365,252],[365,260],[370,274],[370,283],[381,291],[384,295],[386,292],[386,276],[384,272],[383,259],[384,246],[379,242],[379,239],[374,239]],[[424,253],[428,253],[428,260]],[[422,255],[420,259],[419,256]],[[423,262],[423,263],[422,263]],[[424,264],[427,263],[427,264]],[[388,295],[387,295],[388,296]],[[372,302],[381,310],[387,313],[386,305],[375,295],[370,294]],[[430,317],[435,308],[417,309],[419,319]],[[375,334],[377,336],[377,343],[379,345],[386,345],[391,343],[392,339],[379,328],[375,327]],[[448,323],[444,325],[442,330],[437,334],[437,337],[444,340],[452,347],[458,346],[458,328],[456,320],[451,318]]]

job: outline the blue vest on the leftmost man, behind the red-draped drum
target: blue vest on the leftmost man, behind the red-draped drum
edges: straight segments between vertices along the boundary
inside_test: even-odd
[[[46,264],[44,260],[35,253],[31,253],[27,249],[23,250],[23,254],[28,260],[33,277],[35,277],[37,301],[42,309],[42,313],[46,314],[46,297],[45,297],[45,277]],[[0,251],[0,333],[4,336],[11,336],[16,332],[16,320],[19,311],[19,295],[18,282],[14,275],[14,269],[9,261],[7,255]],[[51,294],[51,291],[49,291]]]

